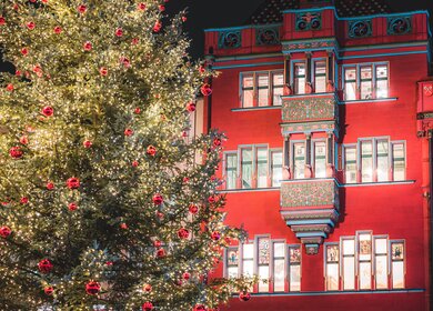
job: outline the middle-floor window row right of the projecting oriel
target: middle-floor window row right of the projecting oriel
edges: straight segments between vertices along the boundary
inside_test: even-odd
[[[361,154],[356,165],[358,148]],[[406,178],[404,142],[390,142],[387,138],[360,139],[358,146],[344,146],[343,150],[345,183],[356,182],[356,168],[361,169],[361,182],[402,181]]]

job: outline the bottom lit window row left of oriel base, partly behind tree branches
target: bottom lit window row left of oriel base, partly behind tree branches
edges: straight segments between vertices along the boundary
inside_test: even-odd
[[[284,241],[271,240],[270,237],[255,238],[255,242],[225,249],[225,275],[259,278],[258,292],[269,292],[273,284],[274,292],[301,291],[301,247],[286,245]],[[241,269],[240,262],[242,262]],[[272,264],[271,264],[272,263]],[[289,283],[286,288],[285,284]]]

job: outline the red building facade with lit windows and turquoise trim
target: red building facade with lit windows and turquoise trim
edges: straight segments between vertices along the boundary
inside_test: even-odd
[[[207,30],[204,128],[249,232],[215,274],[261,280],[224,310],[431,310],[430,39],[426,11],[380,1],[268,0]]]

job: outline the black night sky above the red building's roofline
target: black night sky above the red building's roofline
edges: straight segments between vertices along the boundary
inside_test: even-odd
[[[193,40],[191,53],[194,58],[200,58],[203,54],[204,29],[242,26],[262,1],[264,0],[170,0],[167,7],[169,12],[188,8],[185,30]],[[427,9],[433,16],[433,0],[389,0],[387,2],[395,11]]]

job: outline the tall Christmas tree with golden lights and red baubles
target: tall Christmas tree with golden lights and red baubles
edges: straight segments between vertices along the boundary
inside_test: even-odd
[[[204,79],[165,1],[1,0],[1,310],[216,310],[224,137],[188,140]],[[248,300],[242,292],[242,299]]]

